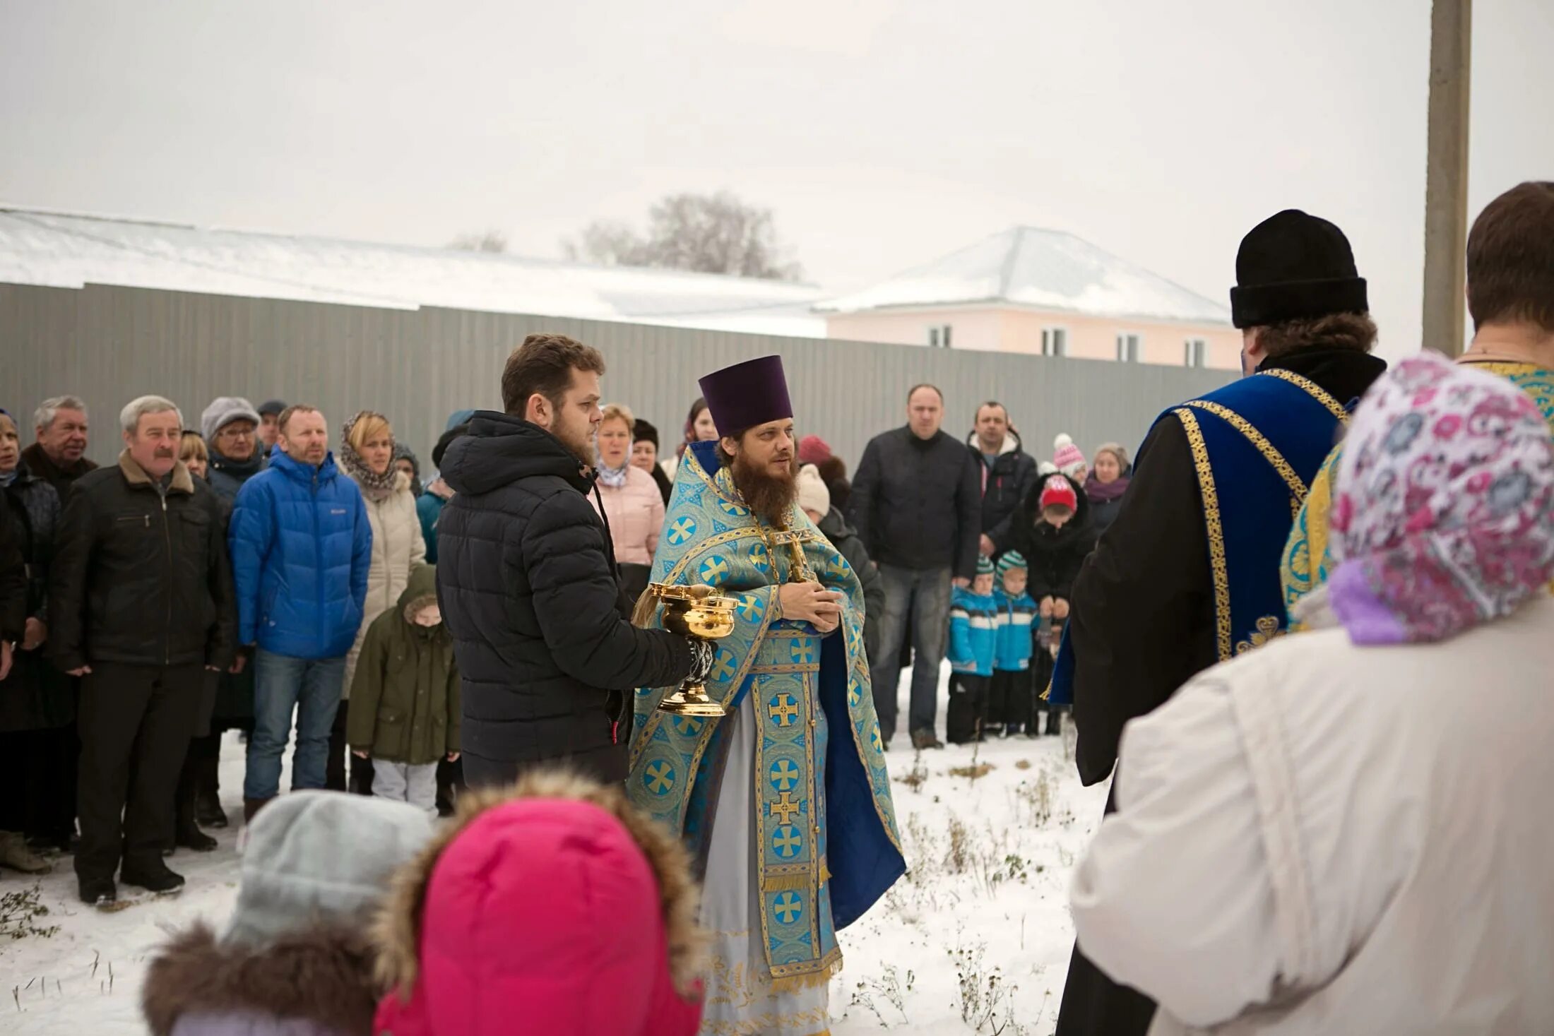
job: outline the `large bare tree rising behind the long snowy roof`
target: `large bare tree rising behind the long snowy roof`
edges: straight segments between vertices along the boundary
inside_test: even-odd
[[[561,242],[569,259],[605,266],[654,266],[701,273],[735,273],[777,281],[803,275],[785,262],[769,208],[747,205],[729,191],[670,194],[648,210],[648,233],[595,221]]]

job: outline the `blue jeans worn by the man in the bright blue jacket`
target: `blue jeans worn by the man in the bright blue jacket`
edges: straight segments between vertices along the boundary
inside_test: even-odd
[[[292,752],[292,791],[323,787],[329,760],[329,727],[340,707],[345,659],[292,659],[263,648],[253,652],[253,733],[249,736],[249,774],[244,798],[275,798],[281,784],[281,756],[297,713],[297,749]]]

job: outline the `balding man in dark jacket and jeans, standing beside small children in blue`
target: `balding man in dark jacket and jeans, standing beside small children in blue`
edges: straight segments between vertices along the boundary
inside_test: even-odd
[[[912,626],[912,746],[942,749],[934,735],[939,663],[949,632],[949,587],[970,586],[982,533],[982,488],[965,446],[940,430],[945,398],[917,385],[908,426],[870,440],[853,477],[852,517],[884,579],[884,617],[873,665],[875,711],[886,746],[895,735],[901,643]]]

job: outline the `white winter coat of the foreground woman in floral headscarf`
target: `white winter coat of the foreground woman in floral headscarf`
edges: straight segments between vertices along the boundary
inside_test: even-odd
[[[1397,648],[1318,604],[1128,724],[1080,947],[1152,1036],[1554,1033],[1554,600]]]

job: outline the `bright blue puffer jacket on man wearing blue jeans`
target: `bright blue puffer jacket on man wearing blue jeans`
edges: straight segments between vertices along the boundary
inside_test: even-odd
[[[292,659],[351,649],[373,533],[362,491],[339,474],[333,454],[314,471],[275,450],[238,491],[228,544],[239,643]]]

